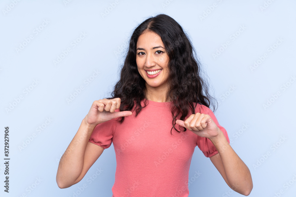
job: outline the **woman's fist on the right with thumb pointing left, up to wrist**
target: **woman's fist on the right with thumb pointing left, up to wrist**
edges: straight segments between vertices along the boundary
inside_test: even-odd
[[[185,121],[176,120],[176,123],[198,136],[206,137],[210,140],[218,137],[221,132],[210,115],[203,113],[192,114]]]

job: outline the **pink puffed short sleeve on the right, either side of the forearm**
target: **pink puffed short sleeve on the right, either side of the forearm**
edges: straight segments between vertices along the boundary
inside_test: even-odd
[[[213,111],[206,107],[205,105],[201,105],[201,110],[199,111],[200,107],[196,110],[195,112],[198,113],[203,113],[203,114],[208,114],[210,115],[210,117],[212,118],[212,120],[216,123],[216,125],[218,126],[218,128],[223,132],[224,136],[226,137],[228,143],[229,143],[229,137],[227,134],[227,131],[224,127],[222,127],[219,123],[218,120],[216,118],[216,116],[214,115]],[[206,156],[206,157],[212,157],[215,154],[218,153],[216,147],[214,146],[214,144],[207,138],[205,137],[200,137],[197,136],[197,146],[200,148],[200,150],[202,151],[202,153]]]

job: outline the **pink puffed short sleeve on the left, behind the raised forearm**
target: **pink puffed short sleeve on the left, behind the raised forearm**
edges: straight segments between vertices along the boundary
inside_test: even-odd
[[[102,146],[104,149],[109,148],[118,123],[115,119],[98,124],[94,128],[94,131],[89,138],[89,142]]]

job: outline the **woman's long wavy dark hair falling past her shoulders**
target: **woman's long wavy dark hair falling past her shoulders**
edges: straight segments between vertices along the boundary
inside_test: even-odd
[[[142,108],[148,105],[145,80],[139,74],[136,64],[137,40],[145,30],[155,32],[160,36],[169,56],[169,89],[166,99],[173,102],[170,108],[173,117],[172,129],[178,131],[175,125],[176,118],[179,115],[181,115],[180,120],[185,121],[189,109],[191,114],[195,114],[197,103],[210,107],[210,105],[213,105],[213,100],[216,100],[210,96],[208,85],[201,78],[200,63],[190,40],[178,22],[168,15],[159,14],[148,18],[136,27],[131,36],[129,49],[121,68],[120,79],[114,87],[112,97],[107,99],[119,97],[121,100],[120,111],[132,110],[134,102],[136,102],[136,116],[141,112]],[[144,100],[144,106],[141,106],[142,100]],[[214,110],[215,105],[213,105]],[[123,123],[124,117],[121,117],[118,121]],[[181,131],[186,131],[184,127],[179,126],[179,128]]]

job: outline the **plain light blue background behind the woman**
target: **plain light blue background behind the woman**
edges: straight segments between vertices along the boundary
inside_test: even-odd
[[[73,0],[65,4],[62,0],[47,0],[15,1],[16,5],[12,2],[0,2],[0,133],[4,136],[4,127],[9,126],[11,158],[9,194],[0,185],[1,196],[22,196],[23,193],[30,197],[75,196],[83,184],[87,188],[78,196],[112,196],[116,169],[113,145],[103,152],[81,182],[70,188],[57,186],[58,162],[92,102],[110,96],[133,29],[147,17],[160,13],[179,22],[192,40],[220,103],[215,115],[226,128],[231,146],[251,171],[254,188],[250,196],[272,197],[280,190],[284,192],[281,196],[295,196],[296,183],[284,185],[296,174],[296,83],[289,84],[296,74],[295,1],[118,0],[115,4],[113,0]],[[110,4],[116,6],[102,16]],[[207,16],[201,19],[206,12]],[[49,21],[48,24],[44,23],[36,35],[35,29],[44,20]],[[245,29],[240,29],[241,26]],[[239,29],[241,32],[237,32]],[[87,35],[73,48],[71,42],[79,38],[81,32]],[[231,35],[235,33],[238,36],[233,40]],[[16,48],[30,35],[33,40],[17,52]],[[278,42],[280,45],[270,53],[268,48],[276,46],[278,39],[282,39]],[[221,49],[223,52],[214,59],[212,54],[227,41],[230,45]],[[71,51],[54,65],[53,61],[68,47]],[[250,66],[264,53],[268,56],[251,71]],[[87,85],[84,81],[94,70],[100,74]],[[34,80],[38,84],[32,89]],[[290,86],[284,91],[283,84]],[[68,103],[66,99],[81,85],[84,89]],[[234,90],[228,92],[231,86]],[[32,90],[26,95],[25,88]],[[272,99],[277,92],[280,95]],[[20,96],[23,99],[7,112],[6,108]],[[267,100],[273,102],[264,108]],[[48,125],[46,118],[52,120]],[[244,124],[248,125],[247,129]],[[46,127],[38,133],[36,128],[42,125]],[[236,132],[240,132],[239,136]],[[32,139],[33,133],[36,137],[20,149],[26,140]],[[279,142],[281,137],[286,138],[283,143]],[[3,150],[4,137],[1,139]],[[271,148],[276,143],[277,149]],[[270,154],[264,159],[267,152]],[[254,167],[260,159],[263,163]],[[0,163],[3,184],[4,165]],[[89,177],[97,168],[103,171],[90,183]],[[189,196],[241,196],[232,192],[198,147],[192,157],[189,179],[195,171],[202,174],[192,179]],[[31,191],[28,187],[34,186],[36,178],[41,182]]]

